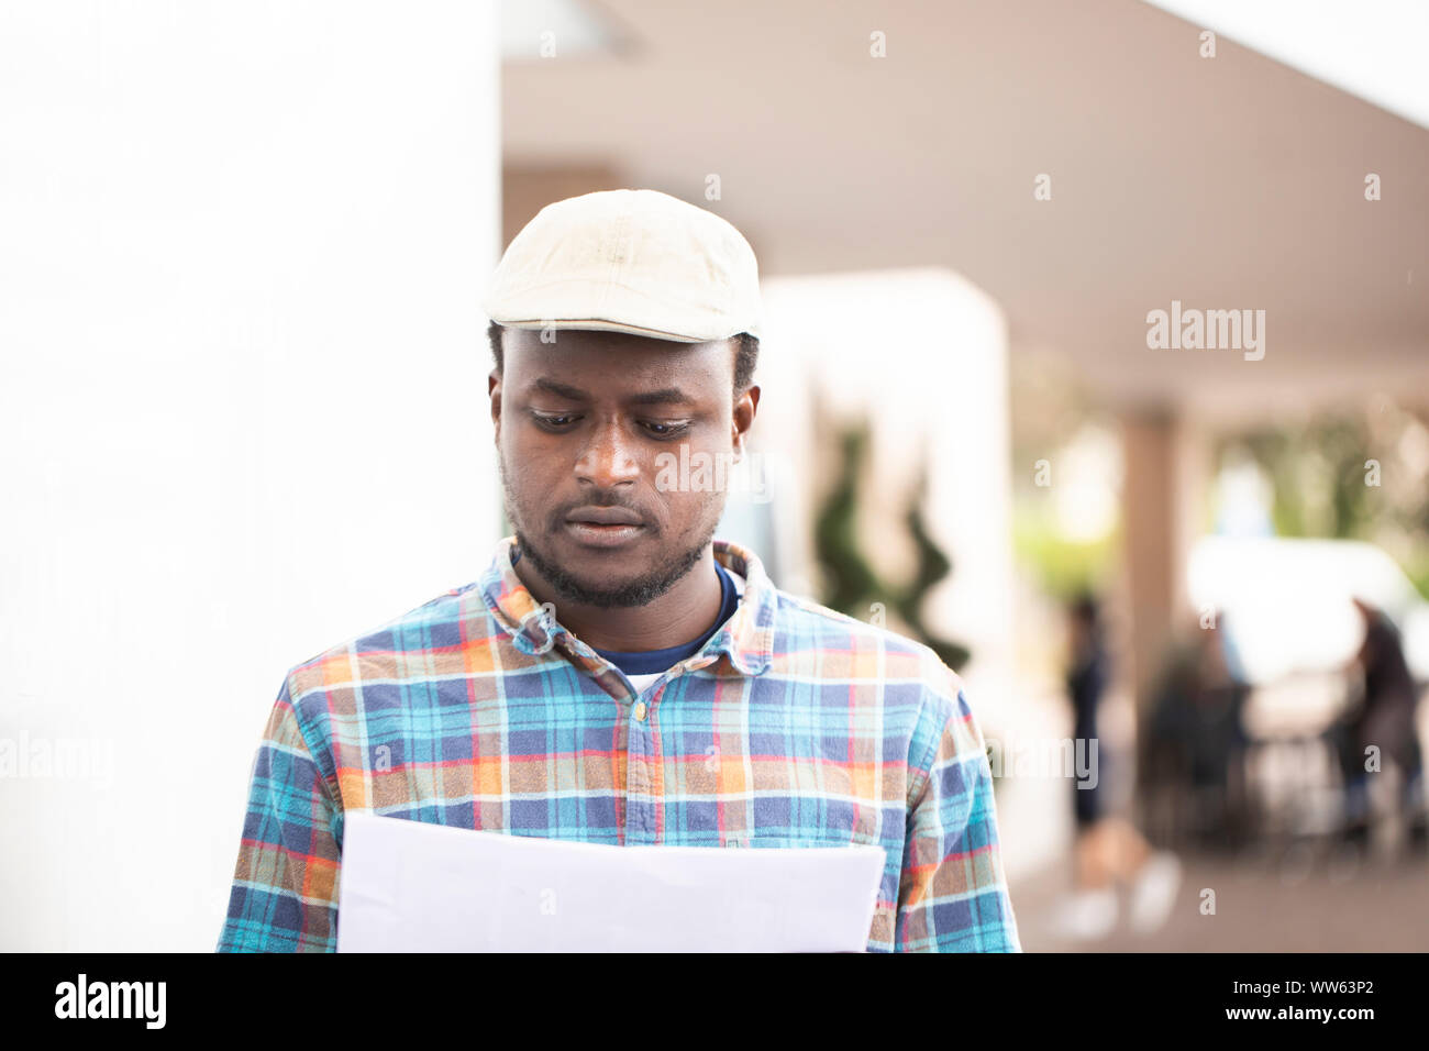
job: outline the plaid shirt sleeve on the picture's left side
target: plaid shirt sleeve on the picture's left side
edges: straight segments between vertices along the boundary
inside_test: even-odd
[[[342,808],[284,681],[253,762],[219,952],[336,952]]]

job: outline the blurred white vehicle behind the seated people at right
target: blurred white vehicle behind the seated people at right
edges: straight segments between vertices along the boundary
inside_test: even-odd
[[[1345,666],[1365,638],[1356,598],[1389,615],[1410,673],[1429,682],[1429,602],[1372,543],[1208,536],[1192,549],[1187,595],[1196,611],[1215,611],[1253,688],[1253,734],[1318,724],[1339,709]]]

